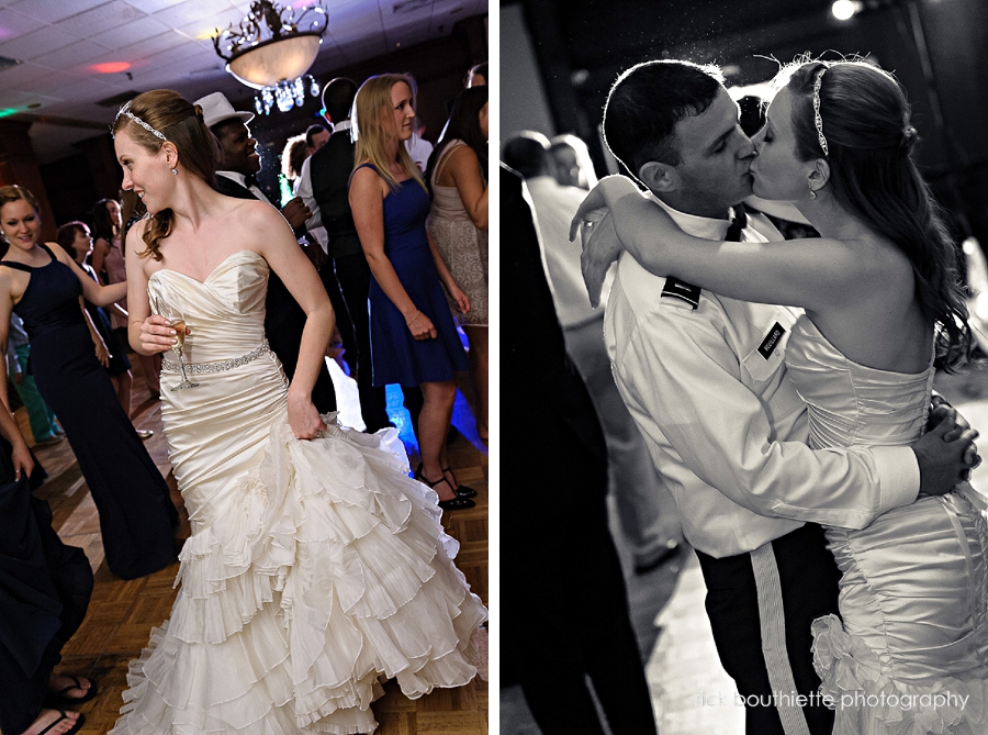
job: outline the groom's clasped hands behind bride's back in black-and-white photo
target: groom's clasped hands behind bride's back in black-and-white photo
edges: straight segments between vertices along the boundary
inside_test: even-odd
[[[929,431],[912,445],[920,468],[920,497],[943,495],[957,482],[970,478],[970,470],[981,464],[977,445],[978,432],[952,408],[934,409],[940,422],[928,424]]]

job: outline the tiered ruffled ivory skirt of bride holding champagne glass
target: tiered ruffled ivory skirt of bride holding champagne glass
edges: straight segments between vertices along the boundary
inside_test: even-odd
[[[313,442],[274,422],[216,493],[229,502],[192,514],[171,619],[132,661],[111,735],[371,733],[381,680],[414,699],[474,677],[486,611],[435,493],[393,430],[325,417]]]

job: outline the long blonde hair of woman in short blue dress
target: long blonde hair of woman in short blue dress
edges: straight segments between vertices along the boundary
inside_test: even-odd
[[[370,77],[360,85],[357,97],[353,99],[353,113],[351,135],[356,141],[353,160],[357,166],[373,164],[378,174],[388,181],[392,189],[398,187],[398,180],[391,171],[392,160],[388,154],[390,138],[397,135],[394,130],[394,115],[391,104],[391,88],[397,82],[403,82],[412,89],[412,80],[403,74],[381,74]],[[398,143],[397,160],[405,172],[425,189],[422,171],[412,160],[408,149],[403,143]]]

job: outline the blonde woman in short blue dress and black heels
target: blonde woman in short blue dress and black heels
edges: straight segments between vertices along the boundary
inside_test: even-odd
[[[357,168],[350,210],[372,275],[373,385],[422,388],[422,464],[415,477],[439,494],[444,510],[473,508],[470,497],[476,492],[457,482],[446,458],[456,371],[469,364],[442,287],[463,313],[470,299],[426,231],[429,194],[404,145],[415,120],[411,80],[397,74],[371,77],[353,104]]]

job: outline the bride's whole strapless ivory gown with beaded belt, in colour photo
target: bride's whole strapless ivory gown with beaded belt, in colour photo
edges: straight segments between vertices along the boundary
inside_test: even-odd
[[[177,365],[161,376],[192,536],[113,735],[371,733],[380,680],[416,698],[476,672],[470,638],[486,611],[395,430],[369,436],[327,414],[323,438],[292,435],[265,343],[268,272],[242,250],[204,282],[149,279],[151,303],[184,311],[186,361],[206,367],[189,376],[197,388],[171,390]]]

